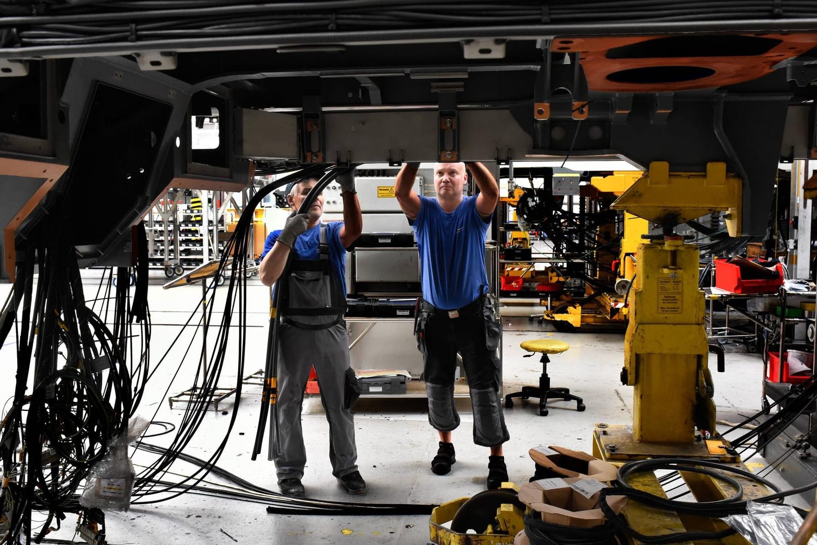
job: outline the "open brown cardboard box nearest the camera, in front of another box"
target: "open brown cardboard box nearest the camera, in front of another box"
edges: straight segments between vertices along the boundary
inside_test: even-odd
[[[605,523],[599,508],[599,491],[607,485],[583,477],[534,480],[519,489],[520,502],[541,514],[547,523],[592,528]],[[627,503],[623,496],[611,496],[607,501],[616,513]]]

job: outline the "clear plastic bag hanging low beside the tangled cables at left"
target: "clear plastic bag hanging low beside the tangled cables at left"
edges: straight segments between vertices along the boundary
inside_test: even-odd
[[[127,456],[127,445],[145,433],[149,425],[145,418],[133,418],[127,425],[127,432],[109,442],[105,458],[88,471],[80,505],[103,511],[127,511],[131,507],[136,473],[131,458]]]

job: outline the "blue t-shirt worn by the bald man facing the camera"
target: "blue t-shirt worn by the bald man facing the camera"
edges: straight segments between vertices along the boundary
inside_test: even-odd
[[[486,221],[476,210],[476,197],[465,197],[453,212],[437,199],[420,197],[420,212],[411,222],[420,254],[422,298],[452,310],[480,297],[488,287],[485,271]]]

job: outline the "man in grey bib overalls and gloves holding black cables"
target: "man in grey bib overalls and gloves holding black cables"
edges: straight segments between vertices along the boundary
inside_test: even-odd
[[[281,289],[278,312],[278,430],[280,448],[275,468],[282,494],[303,497],[301,484],[306,448],[301,430],[304,387],[314,365],[320,399],[329,422],[329,461],[333,476],[350,494],[364,494],[355,447],[355,423],[351,405],[359,393],[349,364],[346,311],[346,248],[362,230],[360,205],[353,171],[337,177],[342,187],[343,222],[320,225],[324,196],[319,195],[309,212],[294,214],[282,230],[266,239],[261,255],[261,282]],[[297,181],[287,196],[293,210],[301,207],[314,179]],[[290,252],[294,252],[288,275],[281,277]]]

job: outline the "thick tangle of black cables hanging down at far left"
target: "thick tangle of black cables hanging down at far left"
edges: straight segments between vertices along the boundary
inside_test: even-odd
[[[128,282],[119,282],[98,311],[96,298],[87,306],[76,254],[60,221],[60,209],[52,209],[28,245],[16,248],[25,259],[16,266],[10,301],[0,313],[0,340],[14,329],[18,346],[15,395],[0,439],[7,480],[0,502],[11,512],[8,541],[30,542],[33,511],[47,511],[37,540],[55,517],[83,511],[78,485],[136,409],[132,361],[147,367],[146,354],[132,350]],[[146,300],[140,304],[141,327],[149,329]]]

